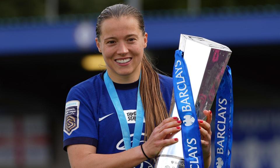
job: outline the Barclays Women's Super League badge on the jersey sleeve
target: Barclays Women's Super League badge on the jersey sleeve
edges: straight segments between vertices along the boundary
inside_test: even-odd
[[[79,105],[78,100],[68,101],[65,105],[63,131],[68,135],[79,127]]]

